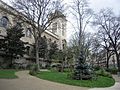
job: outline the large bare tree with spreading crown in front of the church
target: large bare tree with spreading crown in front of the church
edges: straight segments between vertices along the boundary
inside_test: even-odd
[[[39,42],[41,38],[41,34],[48,29],[51,25],[52,21],[59,16],[58,10],[62,10],[62,7],[59,4],[53,2],[53,0],[16,0],[14,6],[20,12],[22,12],[27,19],[24,19],[25,22],[29,23],[32,26],[32,30],[30,31],[35,40],[35,48],[36,48],[36,63],[39,66]],[[58,0],[57,0],[58,3]],[[58,5],[58,6],[56,6]],[[57,11],[55,11],[57,9]],[[64,16],[64,15],[63,15]]]

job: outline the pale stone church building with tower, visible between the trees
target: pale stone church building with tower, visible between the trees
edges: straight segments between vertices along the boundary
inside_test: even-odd
[[[45,36],[47,41],[56,42],[58,44],[58,48],[63,50],[66,44],[66,17],[59,11],[55,12],[56,15],[60,15],[60,17],[56,18],[52,24],[49,26],[49,30],[45,30],[42,36]],[[13,26],[16,21],[19,21],[17,17],[21,17],[24,19],[25,16],[12,8],[11,6],[7,5],[3,1],[0,0],[0,39],[6,36],[6,28]],[[32,49],[31,45],[35,43],[32,34],[30,33],[29,29],[31,26],[28,23],[23,24],[24,34],[25,36],[21,38],[24,42],[28,42],[30,49]],[[29,50],[30,50],[29,49]],[[2,61],[2,51],[0,51],[0,61]],[[19,62],[26,62],[26,58],[29,58],[28,55],[24,55],[22,61]]]

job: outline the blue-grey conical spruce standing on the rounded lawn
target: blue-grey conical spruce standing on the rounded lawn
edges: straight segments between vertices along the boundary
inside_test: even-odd
[[[89,71],[89,66],[85,60],[85,54],[80,50],[80,55],[75,62],[73,79],[82,80],[82,79],[91,79],[91,72]]]

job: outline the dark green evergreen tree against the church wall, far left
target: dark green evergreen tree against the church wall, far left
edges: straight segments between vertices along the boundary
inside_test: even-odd
[[[24,42],[21,38],[24,36],[23,28],[20,23],[17,23],[7,30],[7,36],[5,37],[5,52],[10,57],[10,67],[12,66],[13,58],[23,56],[25,54]]]

